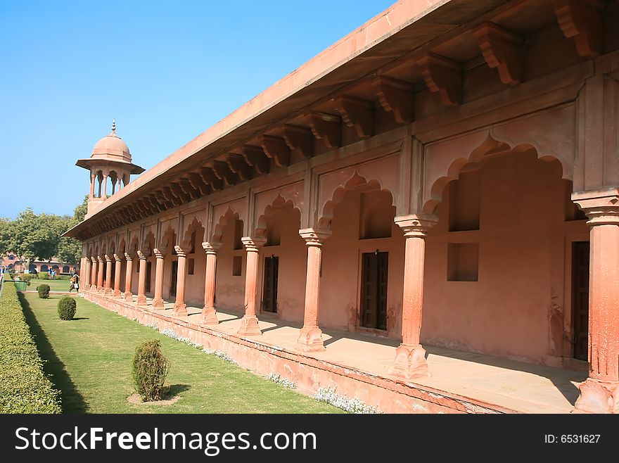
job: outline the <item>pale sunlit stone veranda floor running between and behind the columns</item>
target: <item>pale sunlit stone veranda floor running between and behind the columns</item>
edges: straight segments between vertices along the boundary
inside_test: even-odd
[[[135,300],[135,296],[134,296]],[[152,299],[148,298],[148,305]],[[165,315],[172,316],[174,303],[165,303]],[[175,317],[198,323],[201,307],[187,307],[186,317]],[[236,334],[241,324],[240,313],[217,312],[215,331]],[[301,324],[284,322],[269,315],[259,315],[262,336],[253,340],[267,345],[296,349]],[[349,331],[324,331],[326,350],[309,353],[315,357],[387,377],[398,341]],[[578,397],[577,385],[587,378],[585,372],[544,367],[478,353],[426,346],[431,376],[409,381],[411,385],[428,386],[447,393],[482,400],[523,413],[569,413]]]

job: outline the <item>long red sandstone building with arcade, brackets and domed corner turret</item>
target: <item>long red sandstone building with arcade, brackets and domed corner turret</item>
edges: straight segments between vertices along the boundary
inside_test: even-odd
[[[387,412],[619,412],[618,26],[400,1],[106,198],[113,132],[86,297]]]

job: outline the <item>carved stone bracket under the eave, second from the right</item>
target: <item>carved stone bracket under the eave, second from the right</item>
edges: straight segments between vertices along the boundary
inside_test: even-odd
[[[494,23],[485,23],[473,30],[479,47],[490,68],[497,68],[501,82],[516,85],[523,78],[523,39]]]

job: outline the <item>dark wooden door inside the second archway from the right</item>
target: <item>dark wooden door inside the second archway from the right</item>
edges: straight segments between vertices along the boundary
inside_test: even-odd
[[[362,256],[361,316],[366,328],[387,329],[387,269],[389,253]]]

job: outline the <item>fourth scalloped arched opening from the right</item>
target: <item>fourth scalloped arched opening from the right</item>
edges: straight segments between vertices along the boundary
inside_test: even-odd
[[[219,217],[213,229],[210,241],[221,245],[217,251],[215,277],[217,310],[245,311],[245,250],[241,243],[243,227],[243,220],[239,219],[238,213],[229,208]]]

